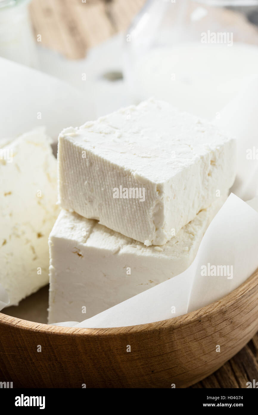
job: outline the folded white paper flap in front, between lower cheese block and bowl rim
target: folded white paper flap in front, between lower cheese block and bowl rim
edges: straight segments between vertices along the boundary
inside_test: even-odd
[[[122,327],[165,320],[229,294],[258,267],[258,201],[256,208],[257,212],[231,193],[186,271],[74,327]]]

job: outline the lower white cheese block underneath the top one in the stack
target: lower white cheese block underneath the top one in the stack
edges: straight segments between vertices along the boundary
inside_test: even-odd
[[[200,211],[159,247],[61,210],[49,237],[48,321],[85,320],[183,272],[224,200]]]

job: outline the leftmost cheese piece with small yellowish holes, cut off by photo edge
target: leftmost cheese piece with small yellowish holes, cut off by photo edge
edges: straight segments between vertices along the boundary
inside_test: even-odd
[[[57,161],[43,128],[0,146],[0,284],[17,305],[48,283]]]

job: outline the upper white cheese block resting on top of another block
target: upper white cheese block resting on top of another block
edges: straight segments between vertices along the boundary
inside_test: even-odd
[[[145,245],[162,245],[225,193],[235,140],[147,100],[59,136],[59,202]]]

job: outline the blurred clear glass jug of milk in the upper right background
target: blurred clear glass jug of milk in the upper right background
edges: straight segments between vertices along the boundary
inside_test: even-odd
[[[258,0],[149,0],[129,28],[124,75],[135,103],[154,96],[213,119],[258,74]],[[224,8],[222,6],[230,6]]]

